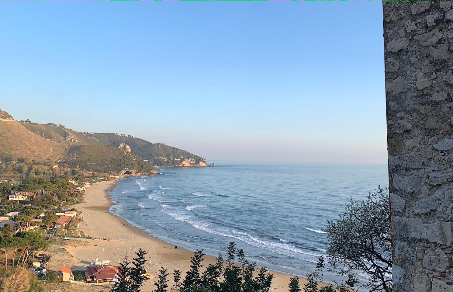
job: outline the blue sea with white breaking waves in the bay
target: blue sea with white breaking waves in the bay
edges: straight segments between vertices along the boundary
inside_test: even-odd
[[[388,187],[385,164],[215,163],[121,179],[110,211],[180,248],[216,256],[234,241],[249,261],[305,277],[326,256],[327,221]],[[335,280],[325,271],[325,282]]]

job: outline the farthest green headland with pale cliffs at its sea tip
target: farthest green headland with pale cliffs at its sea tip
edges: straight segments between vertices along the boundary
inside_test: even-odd
[[[159,167],[169,166],[206,166],[206,160],[188,151],[162,143],[151,143],[133,136],[115,133],[87,134],[102,144],[119,147],[122,143],[130,146],[132,153]]]

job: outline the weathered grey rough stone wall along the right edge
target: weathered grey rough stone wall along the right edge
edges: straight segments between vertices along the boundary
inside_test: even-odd
[[[453,292],[453,5],[383,1],[395,292]]]

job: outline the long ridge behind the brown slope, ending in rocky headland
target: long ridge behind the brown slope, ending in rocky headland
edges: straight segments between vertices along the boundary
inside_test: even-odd
[[[125,154],[137,156],[143,161],[148,161],[150,165],[157,167],[207,166],[206,160],[202,156],[194,155],[188,151],[162,143],[151,143],[133,136],[116,133],[82,133],[68,129],[62,125],[52,123],[38,124],[30,122],[29,120],[17,123],[20,123],[22,127],[34,133],[36,136],[39,136],[41,139],[58,143],[58,147],[56,146],[57,148],[61,148],[61,146],[64,145],[68,161],[72,162],[77,160],[77,155],[74,159],[70,153],[82,151],[84,148],[75,146],[103,146],[100,149],[105,150],[109,149],[105,148],[106,146],[111,146],[120,148]],[[88,152],[95,151],[95,149],[96,147],[85,147],[85,150],[81,152],[82,156],[92,156],[88,154]],[[99,151],[95,152],[98,155],[101,153]],[[116,152],[118,151],[112,151],[112,153]],[[92,158],[94,157],[96,156],[92,156]],[[104,159],[106,159],[106,157],[104,157]],[[118,159],[124,161],[124,159]],[[88,162],[85,161],[84,163]]]

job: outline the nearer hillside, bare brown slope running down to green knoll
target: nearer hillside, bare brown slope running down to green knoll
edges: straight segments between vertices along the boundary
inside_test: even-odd
[[[0,110],[0,161],[31,158],[101,173],[155,173],[154,167],[123,149],[102,145],[96,138],[57,125],[15,121]],[[74,146],[74,144],[76,144]],[[91,144],[91,145],[87,145]],[[7,158],[7,159],[5,159]]]

